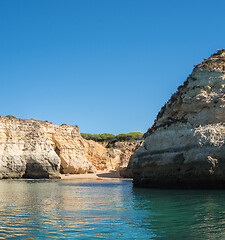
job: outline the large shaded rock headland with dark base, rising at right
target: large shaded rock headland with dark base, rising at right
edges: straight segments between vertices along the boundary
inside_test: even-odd
[[[195,66],[132,159],[135,186],[225,188],[225,50]]]

